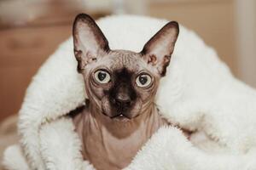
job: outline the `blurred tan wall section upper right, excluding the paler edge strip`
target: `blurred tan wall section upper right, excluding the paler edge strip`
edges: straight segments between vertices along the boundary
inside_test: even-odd
[[[161,0],[148,4],[148,14],[194,30],[238,75],[234,8],[232,0]]]

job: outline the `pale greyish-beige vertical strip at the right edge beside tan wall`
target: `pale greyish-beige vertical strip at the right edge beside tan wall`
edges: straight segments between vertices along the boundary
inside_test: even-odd
[[[256,1],[236,0],[239,77],[256,88]]]

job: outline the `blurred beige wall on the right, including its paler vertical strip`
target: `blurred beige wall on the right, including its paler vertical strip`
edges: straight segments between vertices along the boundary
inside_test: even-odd
[[[177,20],[197,32],[230,66],[256,88],[255,0],[148,0],[148,14]]]

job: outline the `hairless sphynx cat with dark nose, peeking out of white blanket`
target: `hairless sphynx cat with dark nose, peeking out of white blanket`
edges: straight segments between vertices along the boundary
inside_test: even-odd
[[[154,97],[166,74],[178,25],[169,22],[142,52],[111,50],[108,40],[86,14],[74,21],[74,54],[89,100],[73,114],[84,160],[98,170],[128,166],[143,144],[168,123]]]

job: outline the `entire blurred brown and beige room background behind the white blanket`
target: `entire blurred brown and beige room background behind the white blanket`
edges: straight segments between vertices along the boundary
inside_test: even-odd
[[[32,76],[71,36],[73,19],[82,12],[94,19],[143,14],[177,20],[256,88],[255,0],[0,0],[0,122],[19,111]],[[12,122],[0,123],[0,134],[14,130],[5,128]]]

